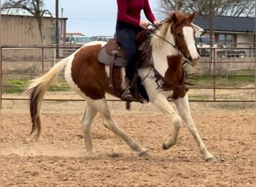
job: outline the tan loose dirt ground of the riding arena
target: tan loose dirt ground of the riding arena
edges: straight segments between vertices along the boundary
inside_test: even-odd
[[[85,102],[44,102],[40,141],[28,137],[28,103],[3,101],[0,186],[255,186],[255,104],[191,103],[192,117],[218,162],[204,162],[186,126],[162,150],[172,124],[153,105],[109,102],[118,125],[143,145],[139,157],[97,115],[94,148],[85,153],[79,124]]]

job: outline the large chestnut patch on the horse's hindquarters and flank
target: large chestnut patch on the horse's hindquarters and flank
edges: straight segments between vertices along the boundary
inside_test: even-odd
[[[71,67],[71,77],[78,88],[91,99],[102,99],[105,93],[117,94],[109,88],[109,78],[106,74],[105,65],[97,60],[97,53],[101,45],[84,46],[73,58]],[[121,93],[121,68],[115,67],[113,70],[113,84]]]

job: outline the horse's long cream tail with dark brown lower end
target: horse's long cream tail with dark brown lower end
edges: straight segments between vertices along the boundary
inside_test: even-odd
[[[43,96],[49,88],[52,79],[57,76],[61,70],[67,65],[69,57],[64,58],[55,64],[48,73],[31,81],[31,85],[27,88],[25,93],[29,95],[29,109],[32,123],[30,135],[37,130],[36,138],[41,134],[41,119],[40,109],[43,101]]]

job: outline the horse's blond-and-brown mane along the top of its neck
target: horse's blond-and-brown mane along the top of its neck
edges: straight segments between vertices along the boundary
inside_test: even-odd
[[[151,40],[151,44],[154,43],[156,46],[161,45],[161,43],[164,42],[164,40],[161,39],[168,37],[167,34],[171,34],[171,31],[169,31],[170,25],[173,23],[172,16],[175,13],[177,16],[177,22],[175,22],[175,25],[180,25],[180,23],[184,22],[187,18],[186,13],[182,13],[178,10],[175,10],[174,12],[169,13],[169,16],[162,22],[161,29],[156,31],[156,35],[153,36]]]

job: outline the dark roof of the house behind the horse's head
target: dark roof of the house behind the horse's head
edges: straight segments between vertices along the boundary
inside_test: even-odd
[[[209,15],[197,15],[195,25],[209,31]],[[255,18],[234,16],[213,16],[214,31],[255,32]]]

